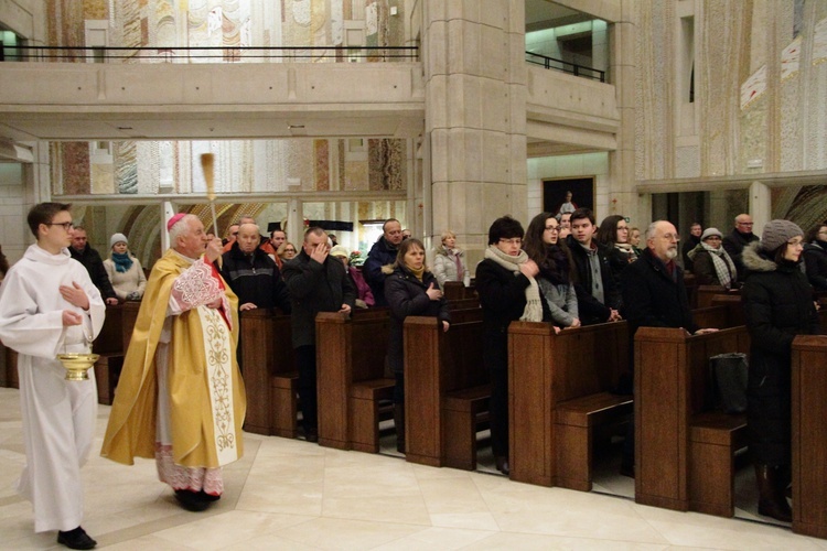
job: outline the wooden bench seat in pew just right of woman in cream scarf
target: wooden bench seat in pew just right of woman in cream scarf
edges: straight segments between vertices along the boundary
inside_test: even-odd
[[[567,400],[555,410],[557,485],[591,491],[594,430],[629,423],[631,396],[598,392]],[[589,461],[583,461],[587,457]]]

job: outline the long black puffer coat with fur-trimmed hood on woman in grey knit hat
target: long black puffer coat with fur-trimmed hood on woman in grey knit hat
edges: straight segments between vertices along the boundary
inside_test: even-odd
[[[791,353],[796,335],[820,332],[807,278],[797,263],[776,264],[759,242],[743,250],[741,291],[750,332],[748,425],[759,463],[790,465]]]

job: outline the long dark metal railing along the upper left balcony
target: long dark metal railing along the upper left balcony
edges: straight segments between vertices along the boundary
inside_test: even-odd
[[[417,46],[17,46],[4,61],[106,63],[293,63],[417,61]]]

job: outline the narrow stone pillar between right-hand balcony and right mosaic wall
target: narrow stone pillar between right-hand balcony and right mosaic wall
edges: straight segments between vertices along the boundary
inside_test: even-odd
[[[621,123],[617,149],[609,153],[608,204],[613,212],[608,214],[629,216],[632,225],[645,228],[652,222],[652,209],[646,208],[651,198],[642,201],[635,190],[635,40],[634,1],[621,0],[621,19],[610,28],[609,78],[614,85]]]

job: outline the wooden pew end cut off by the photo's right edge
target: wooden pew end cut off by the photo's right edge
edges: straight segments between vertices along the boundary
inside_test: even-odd
[[[793,342],[793,531],[827,538],[827,336]]]

